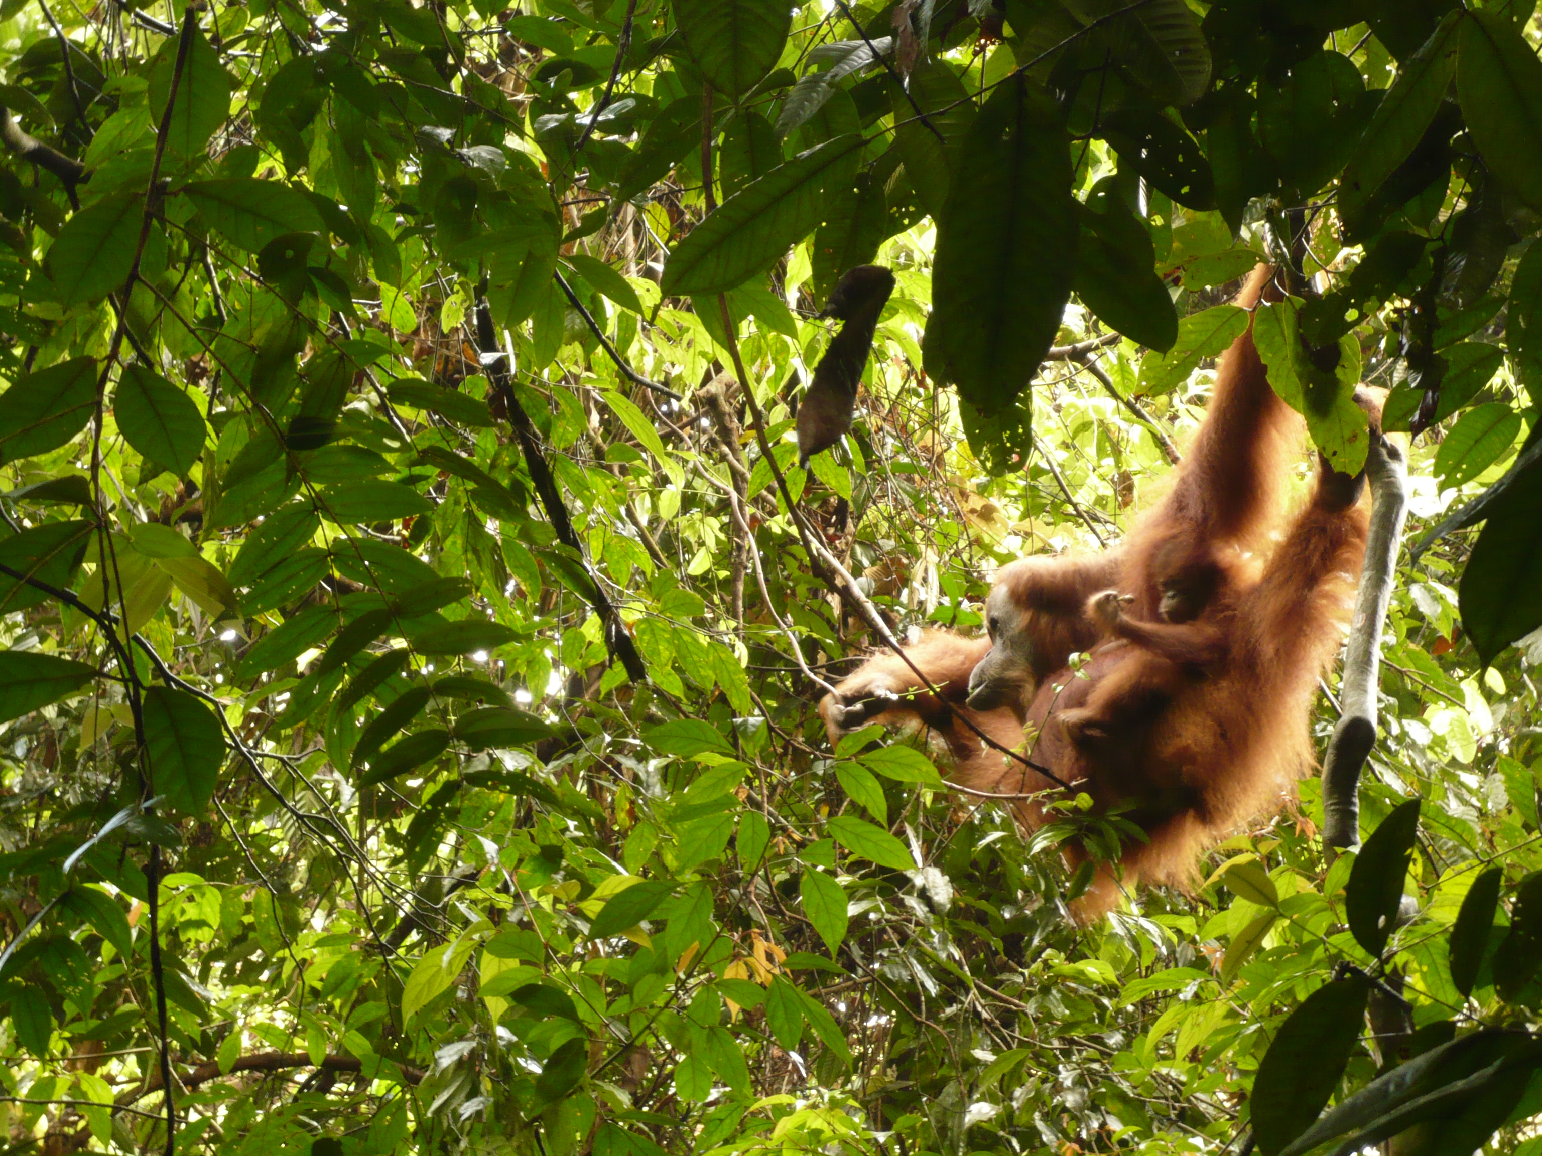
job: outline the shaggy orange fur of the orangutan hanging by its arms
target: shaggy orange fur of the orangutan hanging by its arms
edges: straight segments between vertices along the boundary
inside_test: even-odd
[[[1251,308],[1264,296],[1277,293],[1260,267],[1237,301]],[[1001,572],[996,589],[1005,584],[1025,612],[1035,647],[1025,723],[1024,711],[964,706],[968,674],[990,650],[985,640],[930,632],[907,647],[962,717],[1005,748],[1027,741],[1027,766],[979,741],[930,695],[891,698],[857,721],[919,720],[945,740],[954,781],[973,791],[1024,794],[1061,780],[1092,795],[1099,812],[1133,805],[1124,817],[1149,842],[1126,846],[1124,880],[1187,883],[1207,843],[1275,808],[1311,766],[1315,681],[1348,621],[1368,524],[1359,490],[1346,496],[1343,476],[1325,473],[1271,550],[1271,533],[1286,521],[1300,430],[1298,415],[1268,384],[1249,322],[1221,359],[1204,422],[1172,487],[1138,518],[1124,546],[1025,558]],[[1269,555],[1261,573],[1247,552]],[[1195,570],[1214,575],[1195,620],[1158,621],[1164,580]],[[1099,624],[1086,598],[1106,587],[1126,593],[1130,617],[1115,626],[1115,640],[1098,646]],[[1073,650],[1089,649],[1079,672],[1056,670],[1056,661],[1064,667]],[[854,700],[917,686],[897,657],[868,660],[820,703],[831,740],[851,729],[842,721]],[[1025,828],[1042,825],[1039,803],[1013,806]],[[1069,849],[1073,862],[1084,857]],[[1104,868],[1078,914],[1101,914],[1116,900],[1118,883]]]

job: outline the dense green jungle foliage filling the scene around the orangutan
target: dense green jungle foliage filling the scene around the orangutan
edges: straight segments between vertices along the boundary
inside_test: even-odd
[[[1542,1151],[1539,42],[0,3],[0,1147]],[[1306,781],[1076,926],[1055,848],[1115,828],[1024,840],[814,707],[870,607],[975,630],[998,564],[1118,538],[1263,256],[1275,387],[1351,470],[1391,387],[1440,527],[1368,842],[1325,862]]]

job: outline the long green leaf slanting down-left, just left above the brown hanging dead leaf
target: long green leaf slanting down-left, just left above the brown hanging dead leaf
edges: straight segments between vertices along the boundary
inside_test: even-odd
[[[819,223],[825,188],[850,179],[862,143],[856,134],[827,140],[719,205],[669,254],[665,296],[726,293],[771,268]]]

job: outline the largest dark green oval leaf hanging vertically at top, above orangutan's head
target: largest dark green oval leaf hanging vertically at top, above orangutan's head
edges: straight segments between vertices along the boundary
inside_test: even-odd
[[[938,220],[927,371],[996,413],[1038,371],[1076,268],[1070,153],[1025,77],[985,102],[953,168]]]

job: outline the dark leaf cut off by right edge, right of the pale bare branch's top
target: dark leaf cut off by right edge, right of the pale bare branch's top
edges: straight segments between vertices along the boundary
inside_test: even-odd
[[[1457,592],[1462,627],[1486,666],[1542,626],[1542,465],[1517,473],[1485,513]]]

